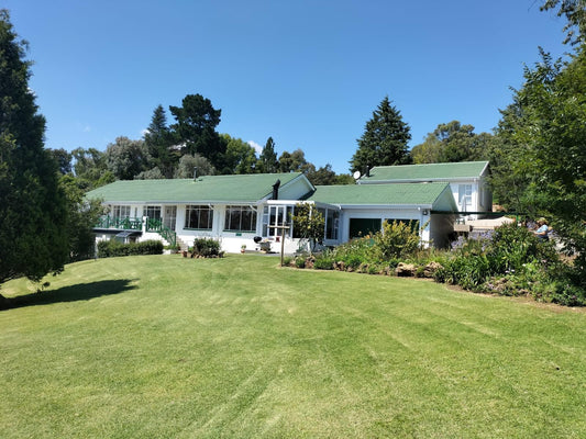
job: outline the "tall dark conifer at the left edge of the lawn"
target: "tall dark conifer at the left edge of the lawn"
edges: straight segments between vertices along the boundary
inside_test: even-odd
[[[67,260],[66,203],[44,148],[45,119],[29,89],[26,45],[0,10],[0,283],[40,280]]]

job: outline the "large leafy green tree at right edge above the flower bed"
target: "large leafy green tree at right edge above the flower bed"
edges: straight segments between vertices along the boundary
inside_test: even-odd
[[[582,47],[567,63],[543,50],[541,57],[502,112],[495,155],[504,160],[494,180],[518,178],[526,203],[519,207],[553,218],[586,288],[586,54]]]

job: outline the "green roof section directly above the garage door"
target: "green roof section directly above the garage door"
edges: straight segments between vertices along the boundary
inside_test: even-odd
[[[433,205],[447,183],[318,185],[310,201],[341,205]]]

